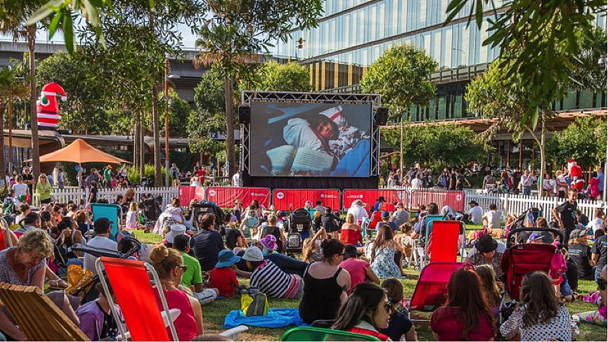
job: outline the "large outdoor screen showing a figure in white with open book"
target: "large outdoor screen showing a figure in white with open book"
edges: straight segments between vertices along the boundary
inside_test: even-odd
[[[250,175],[369,177],[370,104],[251,103]]]

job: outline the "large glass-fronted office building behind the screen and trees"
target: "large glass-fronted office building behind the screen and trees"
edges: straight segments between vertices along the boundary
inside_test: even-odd
[[[413,44],[439,65],[433,79],[437,98],[427,107],[413,107],[412,121],[467,117],[463,99],[468,80],[486,70],[499,48],[483,46],[495,12],[484,7],[481,28],[468,25],[467,4],[444,27],[449,0],[326,0],[318,27],[295,30],[276,48],[278,58],[298,60],[309,67],[314,91],[358,91],[367,67],[393,44]],[[496,6],[508,0],[496,0]],[[500,12],[498,8],[496,11]],[[604,15],[597,18],[603,27]],[[302,44],[299,41],[302,40]],[[449,76],[449,77],[446,77]],[[603,102],[603,105],[602,105]],[[605,107],[602,94],[576,92],[555,110]]]

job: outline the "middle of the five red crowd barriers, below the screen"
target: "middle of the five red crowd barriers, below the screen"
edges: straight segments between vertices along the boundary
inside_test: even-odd
[[[272,201],[277,210],[295,210],[304,207],[306,201],[323,202],[323,206],[330,206],[338,210],[340,206],[340,192],[337,189],[276,189],[273,191]]]

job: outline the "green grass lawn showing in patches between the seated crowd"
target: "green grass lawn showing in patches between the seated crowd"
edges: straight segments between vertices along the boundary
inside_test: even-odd
[[[477,229],[481,229],[481,226],[477,227],[475,225],[467,225],[467,230]],[[144,234],[143,232],[136,232],[136,236],[143,242],[148,242],[151,244],[158,243],[162,240],[160,235]],[[418,271],[415,271],[412,268],[406,269],[406,278],[402,280],[406,298],[410,298],[412,296],[416,282],[418,282],[418,275]],[[246,279],[240,279],[240,282],[242,284],[248,283]],[[588,294],[591,291],[595,291],[595,282],[588,280],[578,281],[579,294]],[[269,299],[269,303],[271,308],[297,308],[299,300],[271,298]],[[583,311],[597,310],[596,305],[583,303],[582,301],[568,303],[567,307],[570,313],[581,313]],[[217,333],[223,331],[224,317],[226,317],[231,310],[238,309],[240,309],[240,297],[238,296],[235,298],[225,298],[210,305],[205,305],[202,308],[203,317],[205,320],[205,332]],[[428,313],[413,313],[413,317],[415,318],[426,318],[428,316]],[[578,341],[606,341],[606,327],[581,324],[579,328],[581,329],[581,334],[576,338]],[[283,333],[287,331],[287,329],[290,329],[290,327],[278,329],[250,327],[245,334],[241,335],[240,339],[245,341],[278,341],[280,340],[280,337],[283,336]],[[419,341],[434,340],[428,324],[416,322],[415,329],[418,332]]]

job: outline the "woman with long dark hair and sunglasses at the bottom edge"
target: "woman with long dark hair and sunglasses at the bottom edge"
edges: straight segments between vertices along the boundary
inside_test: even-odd
[[[382,287],[376,284],[357,284],[347,301],[340,307],[332,329],[375,336],[380,341],[389,340],[378,329],[389,327],[392,305]]]

